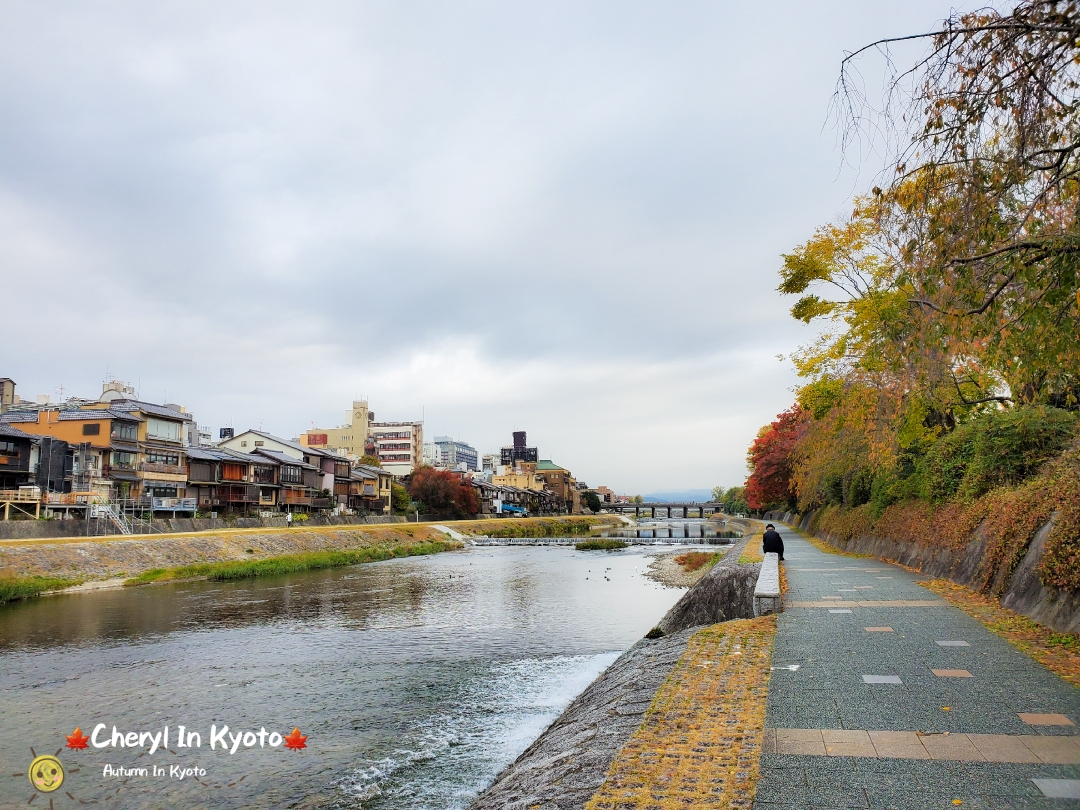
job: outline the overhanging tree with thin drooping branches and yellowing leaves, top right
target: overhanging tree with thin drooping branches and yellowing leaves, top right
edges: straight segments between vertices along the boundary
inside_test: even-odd
[[[888,82],[880,107],[856,60],[902,40],[923,56]],[[890,59],[891,64],[891,59]],[[892,177],[875,220],[908,302],[944,351],[976,349],[987,390],[956,375],[958,399],[1048,402],[1080,395],[1080,8],[1028,0],[954,13],[936,31],[848,56],[836,96],[848,143],[886,133]]]

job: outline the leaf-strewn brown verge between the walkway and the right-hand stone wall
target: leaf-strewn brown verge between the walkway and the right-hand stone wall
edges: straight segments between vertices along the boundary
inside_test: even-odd
[[[1001,607],[996,598],[958,585],[947,579],[919,582],[950,605],[981,621],[986,627],[1022,652],[1026,652],[1072,686],[1080,687],[1080,638],[1071,633],[1055,633],[1026,616]]]

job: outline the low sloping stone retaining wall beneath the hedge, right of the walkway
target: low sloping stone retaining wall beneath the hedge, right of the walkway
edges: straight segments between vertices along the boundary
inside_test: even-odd
[[[781,521],[819,540],[853,554],[869,554],[909,568],[916,568],[932,577],[949,579],[968,588],[980,588],[987,580],[984,568],[986,541],[982,529],[975,529],[970,540],[960,548],[947,549],[928,546],[920,543],[899,542],[886,538],[867,536],[841,540],[828,532],[811,532],[813,512],[770,512],[771,521]],[[1047,537],[1053,528],[1051,518],[1031,540],[1016,567],[1011,573],[1003,572],[990,583],[994,593],[1000,594],[1003,607],[1032,619],[1059,633],[1080,632],[1080,593],[1044,585],[1039,579],[1039,563],[1042,561]]]

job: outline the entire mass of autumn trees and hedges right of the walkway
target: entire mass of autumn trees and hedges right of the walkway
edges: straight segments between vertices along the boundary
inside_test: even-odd
[[[957,13],[926,42],[883,109],[845,60],[846,139],[905,135],[890,181],[783,257],[779,292],[819,332],[745,497],[840,538],[955,546],[981,526],[984,589],[1054,517],[1039,575],[1077,590],[1080,8]]]

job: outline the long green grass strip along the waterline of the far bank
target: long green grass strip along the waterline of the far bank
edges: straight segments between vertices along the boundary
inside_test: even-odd
[[[437,554],[442,551],[461,548],[460,543],[431,540],[397,545],[368,545],[347,551],[313,551],[303,554],[282,554],[262,559],[235,559],[221,563],[195,563],[176,568],[152,568],[124,582],[125,585],[145,585],[150,582],[167,582],[180,579],[252,579],[273,577],[279,573],[313,571],[322,568],[341,568],[361,563],[378,563],[395,557],[415,557]]]

